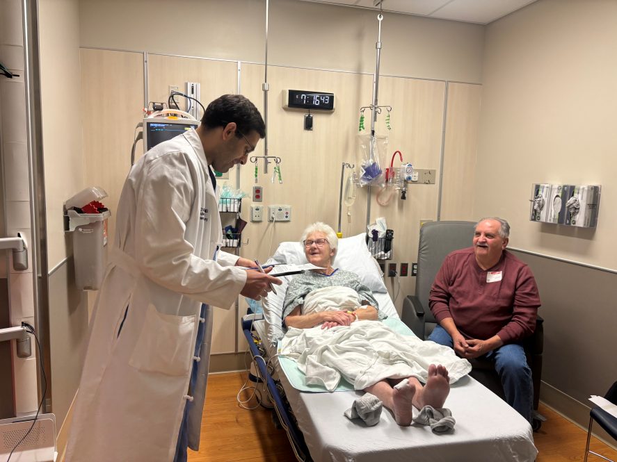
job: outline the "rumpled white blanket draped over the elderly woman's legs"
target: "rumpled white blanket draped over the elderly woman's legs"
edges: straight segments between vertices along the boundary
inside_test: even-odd
[[[428,366],[442,364],[450,383],[470,372],[454,350],[416,336],[403,336],[378,321],[357,321],[332,329],[290,327],[279,354],[294,358],[306,383],[335,390],[341,377],[364,390],[380,380],[416,377],[426,383]]]

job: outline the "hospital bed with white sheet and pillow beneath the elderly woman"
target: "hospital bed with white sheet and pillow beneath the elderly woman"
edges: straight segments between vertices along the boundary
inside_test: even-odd
[[[306,263],[298,242],[282,242],[269,263]],[[392,299],[364,235],[339,240],[334,267],[359,274],[373,290],[379,309],[397,319]],[[275,273],[276,271],[273,271]],[[287,431],[299,461],[534,461],[531,426],[506,402],[472,377],[451,386],[445,406],[456,419],[454,431],[435,434],[430,427],[400,427],[384,409],[380,422],[367,427],[343,413],[363,392],[355,390],[314,393],[298,390],[297,377],[287,377],[276,354],[280,338],[280,311],[291,277],[282,277],[278,295],[264,303],[263,319],[251,315],[243,322],[244,335],[257,374],[264,381],[276,415]],[[303,389],[302,386],[298,388]],[[305,387],[310,388],[310,387]]]

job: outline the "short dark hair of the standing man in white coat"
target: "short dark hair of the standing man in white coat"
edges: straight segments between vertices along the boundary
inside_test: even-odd
[[[216,129],[218,126],[226,126],[230,122],[236,122],[236,136],[240,138],[243,133],[248,135],[255,130],[259,138],[266,136],[266,124],[255,104],[241,94],[223,94],[206,108],[201,120],[207,129]]]

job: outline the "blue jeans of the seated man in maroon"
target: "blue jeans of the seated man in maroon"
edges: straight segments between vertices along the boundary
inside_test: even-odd
[[[450,334],[440,325],[435,327],[428,340],[450,348],[454,345]],[[531,422],[534,386],[522,345],[508,343],[480,357],[487,358],[495,365],[495,370],[502,381],[506,402]]]

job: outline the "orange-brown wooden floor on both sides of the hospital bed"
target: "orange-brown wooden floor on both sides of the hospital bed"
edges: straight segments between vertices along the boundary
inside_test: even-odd
[[[200,451],[189,449],[189,462],[296,461],[287,434],[282,429],[275,429],[271,411],[261,406],[248,411],[239,406],[236,396],[246,376],[246,372],[233,372],[211,374],[208,378]],[[250,404],[255,405],[255,402]],[[542,404],[539,411],[547,421],[540,431],[534,433],[540,452],[536,461],[583,461],[586,431]],[[617,461],[617,451],[600,440],[592,438],[591,449]],[[602,459],[589,456],[588,461]]]

